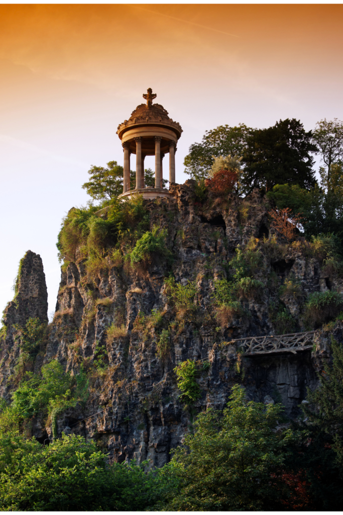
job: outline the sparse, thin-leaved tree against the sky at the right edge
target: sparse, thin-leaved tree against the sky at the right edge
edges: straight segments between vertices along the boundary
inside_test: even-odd
[[[313,131],[313,139],[319,147],[322,161],[327,169],[322,169],[322,174],[330,182],[331,167],[340,164],[343,160],[343,122],[334,118],[327,121],[326,118],[317,122]]]

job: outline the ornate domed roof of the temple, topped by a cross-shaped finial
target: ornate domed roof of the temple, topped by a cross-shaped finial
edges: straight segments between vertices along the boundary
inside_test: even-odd
[[[152,93],[152,89],[149,88],[146,94],[143,94],[143,98],[147,100],[147,104],[140,104],[132,111],[131,116],[128,120],[125,120],[122,124],[118,125],[117,134],[119,138],[128,129],[132,129],[136,126],[164,126],[173,130],[177,139],[180,137],[182,128],[178,122],[174,122],[168,116],[168,111],[160,104],[153,104],[152,101],[156,98],[156,93]]]

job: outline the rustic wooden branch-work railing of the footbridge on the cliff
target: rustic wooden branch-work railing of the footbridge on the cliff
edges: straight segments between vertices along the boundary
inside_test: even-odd
[[[280,334],[278,336],[252,336],[238,338],[228,342],[237,344],[244,350],[244,355],[270,354],[274,352],[293,352],[312,349],[314,331],[304,333]]]

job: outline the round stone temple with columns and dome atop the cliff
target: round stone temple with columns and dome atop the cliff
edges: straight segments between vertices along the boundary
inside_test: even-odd
[[[163,106],[153,104],[156,93],[149,88],[130,118],[118,125],[117,134],[124,149],[124,186],[120,197],[130,197],[134,193],[144,198],[168,197],[169,191],[163,187],[163,158],[169,152],[169,184],[175,182],[175,152],[182,128],[168,116]],[[136,185],[130,184],[130,155],[136,154]],[[145,186],[144,160],[155,156],[155,186]]]

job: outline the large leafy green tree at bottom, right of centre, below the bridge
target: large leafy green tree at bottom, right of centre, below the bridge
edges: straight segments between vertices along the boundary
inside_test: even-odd
[[[282,486],[273,472],[282,467],[291,430],[275,432],[281,405],[247,401],[234,385],[223,416],[212,408],[195,422],[196,432],[178,447],[159,474],[170,481],[167,510],[270,510]],[[169,479],[168,479],[169,478]]]

